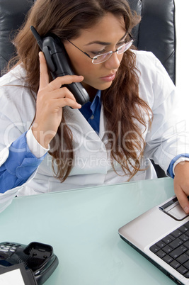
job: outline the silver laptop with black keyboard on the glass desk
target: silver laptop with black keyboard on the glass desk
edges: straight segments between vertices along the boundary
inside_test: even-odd
[[[189,285],[189,216],[176,196],[123,225],[118,233],[176,284]]]

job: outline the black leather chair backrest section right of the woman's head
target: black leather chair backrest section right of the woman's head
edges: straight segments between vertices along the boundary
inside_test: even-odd
[[[128,0],[133,10],[142,16],[134,28],[135,45],[151,51],[166,68],[176,84],[176,23],[174,0]]]

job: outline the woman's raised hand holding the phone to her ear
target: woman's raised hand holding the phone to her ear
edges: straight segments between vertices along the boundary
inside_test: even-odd
[[[83,79],[82,76],[66,75],[49,82],[45,56],[40,52],[40,87],[32,130],[36,140],[43,147],[47,148],[57,133],[62,120],[62,107],[81,108],[81,105],[76,103],[76,99],[69,89],[60,87],[64,84],[81,82]]]

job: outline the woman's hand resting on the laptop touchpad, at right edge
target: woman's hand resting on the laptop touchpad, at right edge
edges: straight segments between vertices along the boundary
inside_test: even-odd
[[[174,190],[178,201],[185,211],[189,213],[189,162],[180,162],[175,167]]]

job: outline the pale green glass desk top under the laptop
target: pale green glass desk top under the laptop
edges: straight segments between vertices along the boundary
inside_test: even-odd
[[[59,265],[45,285],[173,284],[118,235],[118,228],[173,196],[161,178],[13,199],[1,242],[52,245]]]

